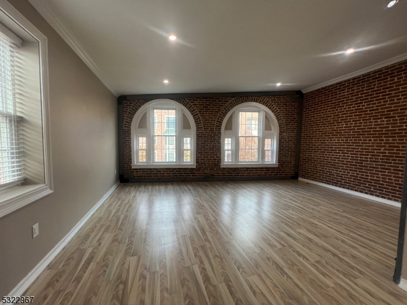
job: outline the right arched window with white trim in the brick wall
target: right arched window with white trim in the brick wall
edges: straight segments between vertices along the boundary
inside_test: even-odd
[[[273,112],[258,103],[243,103],[222,124],[221,167],[277,167],[278,123]]]

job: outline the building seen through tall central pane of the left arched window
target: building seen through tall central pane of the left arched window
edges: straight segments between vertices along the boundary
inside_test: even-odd
[[[154,161],[176,161],[176,110],[154,109]]]

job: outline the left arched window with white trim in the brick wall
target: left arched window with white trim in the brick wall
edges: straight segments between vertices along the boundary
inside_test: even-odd
[[[195,167],[195,122],[172,100],[144,104],[131,123],[132,168]]]

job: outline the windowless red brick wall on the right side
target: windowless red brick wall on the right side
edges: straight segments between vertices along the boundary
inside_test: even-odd
[[[300,177],[400,201],[407,60],[305,94]]]

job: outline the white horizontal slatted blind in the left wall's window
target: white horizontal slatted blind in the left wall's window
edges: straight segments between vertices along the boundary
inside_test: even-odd
[[[0,188],[24,179],[15,103],[18,66],[17,48],[0,35]]]

